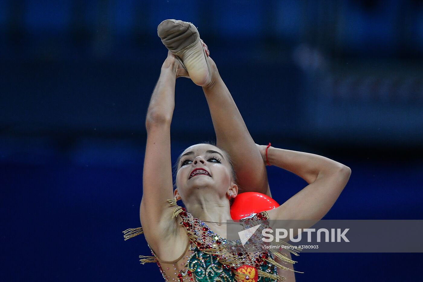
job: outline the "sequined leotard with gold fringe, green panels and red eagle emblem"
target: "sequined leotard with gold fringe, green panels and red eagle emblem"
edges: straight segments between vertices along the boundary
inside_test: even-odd
[[[185,208],[177,206],[173,199],[168,201],[175,206],[173,216],[187,231],[189,241],[185,252],[173,261],[160,260],[151,248],[153,256],[140,256],[141,263],[157,263],[165,281],[276,282],[284,280],[283,276],[278,275],[277,267],[288,268],[277,263],[275,257],[285,263],[294,263],[277,250],[231,251],[228,239],[213,232],[204,221],[193,217]],[[268,215],[264,211],[249,216],[249,219],[268,221]],[[127,229],[124,233],[126,239],[132,238],[142,233],[142,228]]]

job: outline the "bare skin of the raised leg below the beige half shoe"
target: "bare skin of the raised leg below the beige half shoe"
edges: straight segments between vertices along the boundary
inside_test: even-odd
[[[242,192],[260,192],[270,196],[266,167],[260,152],[239,113],[231,93],[219,75],[216,64],[208,57],[212,81],[203,87],[209,105],[217,146],[226,150]],[[231,113],[228,119],[228,113]]]

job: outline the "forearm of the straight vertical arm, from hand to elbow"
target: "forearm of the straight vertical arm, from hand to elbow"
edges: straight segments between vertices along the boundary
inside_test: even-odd
[[[159,80],[151,95],[146,116],[147,129],[152,124],[168,124],[172,120],[175,108],[176,68],[172,61],[166,60],[160,72]]]

